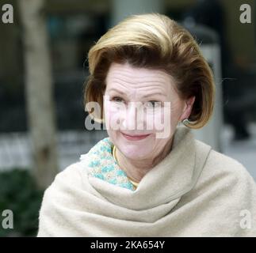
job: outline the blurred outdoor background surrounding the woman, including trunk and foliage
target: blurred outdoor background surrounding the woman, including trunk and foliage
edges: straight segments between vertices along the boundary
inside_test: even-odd
[[[13,23],[4,22],[5,4]],[[212,120],[195,135],[256,179],[255,7],[253,0],[0,0],[0,236],[36,236],[45,188],[105,138],[84,124],[86,57],[130,14],[163,13],[193,34],[217,91]],[[13,228],[2,228],[3,210],[13,211]]]

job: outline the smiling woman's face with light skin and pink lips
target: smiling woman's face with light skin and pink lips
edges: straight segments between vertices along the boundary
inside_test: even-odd
[[[104,113],[109,138],[120,152],[147,160],[161,153],[190,111],[164,71],[113,63],[106,77]]]

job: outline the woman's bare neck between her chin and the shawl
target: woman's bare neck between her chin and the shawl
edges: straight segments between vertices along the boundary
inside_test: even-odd
[[[143,176],[147,174],[147,172],[151,171],[151,169],[154,168],[156,164],[159,164],[159,162],[163,160],[168,155],[168,153],[170,153],[172,143],[173,138],[170,139],[170,142],[166,143],[165,147],[156,157],[141,160],[128,159],[127,157],[124,157],[122,153],[120,153],[119,149],[117,149],[116,156],[118,164],[120,168],[127,173],[128,177],[138,183],[143,178]]]

